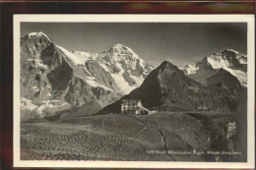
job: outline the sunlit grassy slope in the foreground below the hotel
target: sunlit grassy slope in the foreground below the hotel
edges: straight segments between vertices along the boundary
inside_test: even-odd
[[[212,144],[210,133],[201,120],[185,113],[100,115],[23,124],[22,159],[204,161],[198,155],[147,154],[147,150],[204,150]]]

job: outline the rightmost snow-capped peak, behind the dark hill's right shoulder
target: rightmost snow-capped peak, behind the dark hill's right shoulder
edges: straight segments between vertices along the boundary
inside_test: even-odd
[[[213,79],[217,78],[216,74],[221,76],[225,71],[231,77],[234,77],[239,82],[239,85],[247,86],[247,56],[233,49],[226,49],[221,53],[214,53],[211,56],[203,58],[195,65],[186,65],[180,69],[189,78],[202,85],[213,85]],[[222,82],[219,80],[215,84],[222,84]],[[228,88],[226,85],[224,87]]]

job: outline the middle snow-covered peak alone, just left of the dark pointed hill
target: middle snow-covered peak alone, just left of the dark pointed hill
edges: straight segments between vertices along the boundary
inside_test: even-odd
[[[129,47],[117,43],[107,51],[100,53],[88,53],[75,51],[74,54],[84,59],[85,70],[88,74],[94,72],[90,63],[96,61],[118,86],[117,91],[122,94],[129,93],[132,89],[140,86],[153,67],[141,59]],[[92,75],[96,76],[96,75]]]

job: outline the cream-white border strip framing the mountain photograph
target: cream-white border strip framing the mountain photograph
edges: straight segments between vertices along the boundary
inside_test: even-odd
[[[247,162],[21,160],[20,37],[21,23],[247,23]],[[255,166],[255,24],[254,15],[14,15],[14,167],[89,168],[254,168]]]

